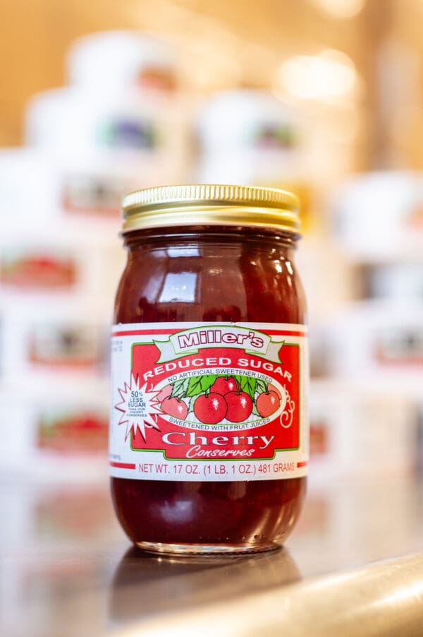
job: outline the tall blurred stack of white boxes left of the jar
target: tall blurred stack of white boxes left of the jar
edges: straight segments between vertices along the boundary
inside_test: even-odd
[[[167,45],[131,32],[78,40],[70,85],[35,96],[27,145],[0,151],[6,470],[104,472],[120,199],[187,177],[174,59]]]

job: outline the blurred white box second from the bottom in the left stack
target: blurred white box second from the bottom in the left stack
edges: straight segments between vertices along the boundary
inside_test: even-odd
[[[0,303],[1,374],[13,382],[30,378],[44,397],[71,374],[106,373],[105,303],[69,293],[58,300],[52,303],[49,294],[37,294],[29,313],[26,295],[2,297]]]

